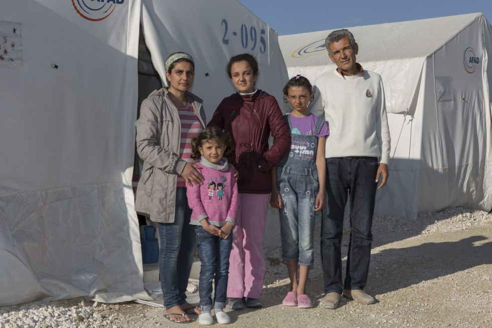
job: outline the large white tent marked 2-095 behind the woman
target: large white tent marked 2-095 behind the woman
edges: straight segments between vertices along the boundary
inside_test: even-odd
[[[256,56],[259,87],[281,95],[277,34],[236,1],[2,1],[0,306],[146,297],[134,122],[159,81],[139,74],[153,70],[138,60],[140,25],[160,76],[170,53],[195,58],[208,118],[234,92],[235,54]]]

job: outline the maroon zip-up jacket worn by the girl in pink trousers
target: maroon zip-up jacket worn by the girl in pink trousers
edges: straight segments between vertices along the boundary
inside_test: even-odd
[[[207,124],[232,138],[233,153],[227,160],[239,172],[239,193],[271,193],[270,172],[290,148],[282,115],[275,97],[258,89],[253,96],[235,93],[224,98]],[[271,147],[270,133],[274,138]]]

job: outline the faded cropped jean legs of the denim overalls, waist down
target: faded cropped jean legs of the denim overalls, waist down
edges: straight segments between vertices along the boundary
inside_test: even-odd
[[[283,167],[277,171],[277,188],[282,198],[280,234],[282,257],[300,265],[314,263],[312,235],[316,214],[314,206],[319,192],[316,170]]]

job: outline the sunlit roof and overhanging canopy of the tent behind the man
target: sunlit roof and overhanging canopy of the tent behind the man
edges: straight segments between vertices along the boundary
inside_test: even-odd
[[[475,18],[476,14],[468,14],[350,28],[360,49],[358,62],[364,69],[379,73],[385,82],[389,113],[402,113],[410,107],[425,58],[472,24]],[[324,46],[325,38],[332,31],[279,38],[289,76],[302,71],[309,80],[314,80],[321,72],[336,68],[327,58]],[[309,67],[309,70],[296,71],[294,68],[298,66]]]

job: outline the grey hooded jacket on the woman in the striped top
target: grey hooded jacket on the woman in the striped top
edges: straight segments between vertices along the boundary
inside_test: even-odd
[[[205,126],[203,101],[191,92],[186,96],[202,126]],[[153,91],[140,106],[136,125],[136,147],[143,159],[138,181],[135,211],[151,221],[172,223],[175,218],[176,181],[186,161],[179,157],[181,121],[167,88]]]

